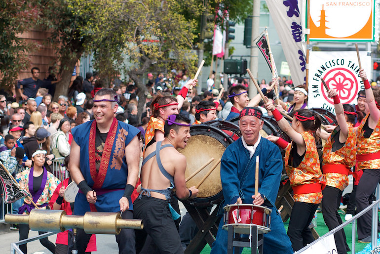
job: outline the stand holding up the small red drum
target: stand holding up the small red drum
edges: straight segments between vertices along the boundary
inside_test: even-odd
[[[264,234],[259,234],[255,224],[251,225],[250,231],[248,237],[241,237],[241,234],[235,233],[233,226],[228,226],[227,254],[233,254],[234,249],[235,253],[240,253],[240,248],[243,247],[251,248],[251,254],[257,254],[257,251],[259,254],[263,254]]]

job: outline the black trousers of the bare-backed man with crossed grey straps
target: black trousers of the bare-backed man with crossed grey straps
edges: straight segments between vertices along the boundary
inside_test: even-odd
[[[147,197],[133,204],[135,219],[144,221],[144,229],[136,230],[136,253],[142,254],[147,235],[156,246],[152,253],[183,254],[181,240],[166,200]],[[144,252],[145,253],[145,252]]]

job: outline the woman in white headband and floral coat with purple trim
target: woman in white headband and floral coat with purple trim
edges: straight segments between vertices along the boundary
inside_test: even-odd
[[[60,181],[45,167],[45,150],[37,150],[32,154],[33,167],[26,169],[16,175],[16,179],[28,193],[31,194],[34,203],[39,209],[50,209],[49,201],[52,193],[54,193]],[[24,199],[24,205],[19,208],[19,214],[28,214],[34,209],[29,199]],[[46,232],[38,231],[38,234],[44,234]],[[29,225],[19,225],[20,240],[27,239],[29,237]],[[55,245],[48,240],[48,238],[42,238],[39,242],[46,247],[51,253],[55,253]],[[23,253],[27,253],[26,244],[20,245],[20,250]]]

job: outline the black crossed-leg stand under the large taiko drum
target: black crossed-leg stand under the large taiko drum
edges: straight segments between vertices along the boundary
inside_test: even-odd
[[[215,210],[210,214],[207,208],[194,207],[183,203],[188,210],[191,218],[194,220],[198,227],[198,233],[191,240],[189,246],[185,250],[185,254],[198,254],[201,253],[206,244],[212,246],[218,233],[218,225],[221,217],[217,216],[219,207],[218,204]]]

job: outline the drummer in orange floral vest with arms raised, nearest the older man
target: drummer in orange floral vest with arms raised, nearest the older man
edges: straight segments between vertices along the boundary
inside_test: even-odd
[[[314,137],[320,132],[321,119],[308,109],[299,109],[294,112],[290,125],[271,102],[266,103],[266,109],[272,111],[278,126],[293,140],[288,143],[280,137],[266,137],[286,151],[285,169],[295,201],[290,215],[288,236],[294,251],[299,251],[314,241],[308,226],[322,201],[322,172]]]

